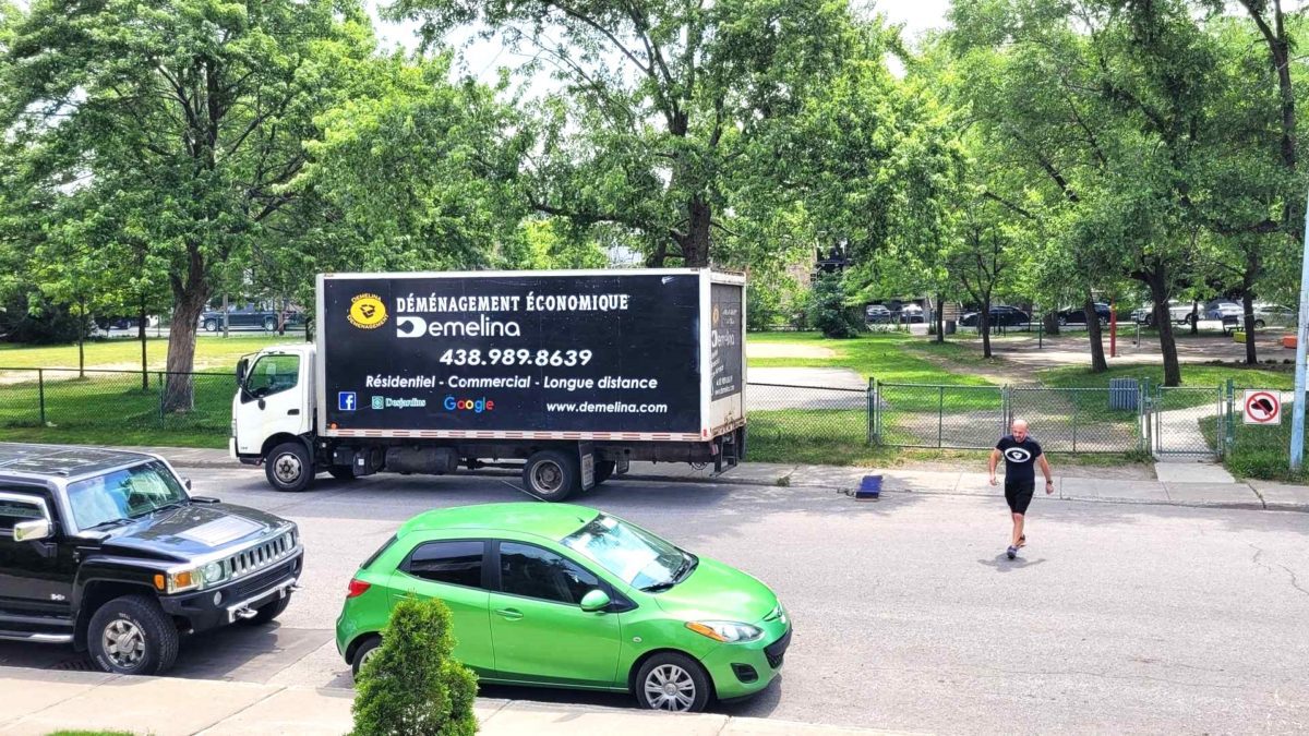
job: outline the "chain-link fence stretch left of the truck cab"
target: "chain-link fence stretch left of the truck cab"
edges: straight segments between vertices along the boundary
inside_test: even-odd
[[[165,390],[178,381],[190,382],[191,401],[169,411]],[[232,373],[0,368],[0,427],[186,430],[225,436],[234,393]]]

